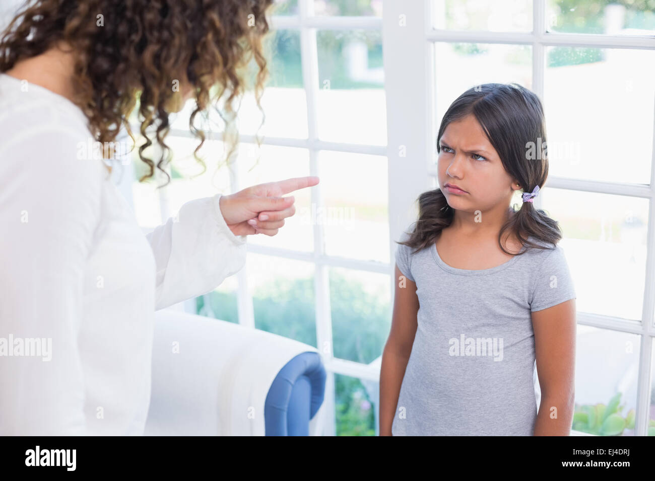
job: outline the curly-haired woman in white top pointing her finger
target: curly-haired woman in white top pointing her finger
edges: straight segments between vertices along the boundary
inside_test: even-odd
[[[271,0],[36,0],[0,40],[0,433],[140,435],[154,312],[212,291],[246,236],[293,215],[299,177],[187,202],[145,238],[89,139],[113,142],[138,98],[141,160],[168,158],[168,113],[223,99],[259,67]],[[153,126],[155,132],[150,128]],[[227,129],[226,129],[227,130]],[[105,144],[106,145],[106,144]],[[234,143],[232,144],[234,147]],[[197,151],[197,149],[196,149]],[[265,217],[267,216],[267,217]]]

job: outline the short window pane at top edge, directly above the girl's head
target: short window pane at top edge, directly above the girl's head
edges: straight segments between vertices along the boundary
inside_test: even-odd
[[[438,29],[532,31],[531,0],[432,0]]]

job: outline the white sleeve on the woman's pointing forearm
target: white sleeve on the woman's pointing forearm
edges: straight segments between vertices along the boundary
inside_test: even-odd
[[[246,262],[246,236],[223,219],[222,194],[187,202],[146,234],[157,264],[155,310],[206,294]]]

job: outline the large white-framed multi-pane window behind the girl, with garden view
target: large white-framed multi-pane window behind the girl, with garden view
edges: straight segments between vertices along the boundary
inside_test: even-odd
[[[242,272],[187,308],[318,347],[328,372],[325,411],[332,413],[326,435],[377,433],[395,241],[415,220],[417,196],[438,185],[441,116],[470,86],[518,82],[544,103],[550,175],[535,204],[561,225],[578,293],[576,413],[582,414],[574,428],[652,432],[650,3],[278,3],[261,149],[254,137],[261,113],[246,97],[234,167],[214,175],[211,159],[222,158],[223,146],[207,141],[208,172],[186,179],[200,168],[184,157],[196,141],[181,114],[168,137],[176,154],[172,183],[158,191],[135,184],[135,210],[144,227],[153,227],[187,200],[218,191],[301,175],[319,175],[321,183],[295,193],[297,213],[278,236],[249,239]],[[139,162],[134,166],[138,171]],[[610,401],[622,406],[612,422],[584,424],[586,410]]]

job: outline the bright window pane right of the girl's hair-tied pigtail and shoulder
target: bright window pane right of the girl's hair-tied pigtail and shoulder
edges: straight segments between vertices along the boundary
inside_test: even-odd
[[[579,311],[641,320],[648,200],[546,188],[544,209],[559,222]],[[593,206],[593,208],[589,208]]]

